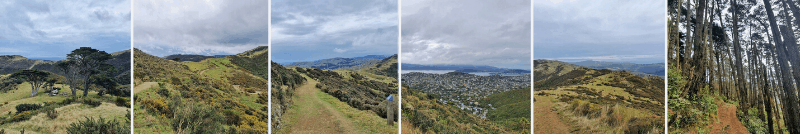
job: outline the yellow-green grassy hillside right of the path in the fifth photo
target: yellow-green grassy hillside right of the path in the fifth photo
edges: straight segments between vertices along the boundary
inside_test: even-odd
[[[534,61],[537,98],[552,101],[560,122],[579,133],[663,130],[664,80],[596,70],[559,61]],[[545,99],[547,98],[547,99]],[[536,102],[534,102],[536,105]],[[537,120],[542,121],[542,120]],[[548,121],[543,121],[548,122]],[[598,125],[599,124],[599,125]]]

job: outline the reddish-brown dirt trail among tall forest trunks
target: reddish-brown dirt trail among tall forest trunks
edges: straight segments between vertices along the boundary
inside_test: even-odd
[[[749,134],[747,128],[736,117],[736,106],[728,103],[717,103],[717,120],[711,124],[712,134]]]

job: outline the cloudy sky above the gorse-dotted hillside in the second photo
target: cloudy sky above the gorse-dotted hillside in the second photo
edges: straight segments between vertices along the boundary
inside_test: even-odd
[[[134,47],[155,56],[232,55],[268,45],[266,0],[136,0]]]

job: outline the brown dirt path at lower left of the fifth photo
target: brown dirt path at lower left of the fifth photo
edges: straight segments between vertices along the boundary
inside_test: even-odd
[[[535,134],[566,134],[569,133],[569,126],[558,118],[558,112],[553,108],[552,98],[547,96],[534,96],[536,102],[533,103],[533,133]]]

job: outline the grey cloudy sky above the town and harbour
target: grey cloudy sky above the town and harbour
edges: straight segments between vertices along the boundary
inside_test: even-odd
[[[403,63],[530,69],[529,0],[404,0]]]

